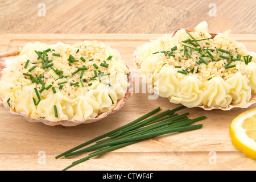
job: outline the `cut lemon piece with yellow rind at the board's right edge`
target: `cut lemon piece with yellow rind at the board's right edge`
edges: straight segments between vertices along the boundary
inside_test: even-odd
[[[247,110],[233,119],[230,135],[234,147],[256,160],[256,108]]]

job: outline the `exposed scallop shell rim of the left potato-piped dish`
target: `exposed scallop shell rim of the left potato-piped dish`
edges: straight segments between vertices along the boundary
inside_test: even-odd
[[[0,79],[2,77],[2,69],[6,68],[8,65],[10,65],[13,57],[18,56],[19,52],[20,51],[9,51],[9,52],[0,53]],[[129,68],[127,64],[126,64],[126,67]],[[0,106],[3,107],[4,109],[6,109],[11,114],[22,116],[27,121],[41,122],[41,123],[44,123],[45,125],[49,125],[49,126],[55,126],[55,125],[77,126],[77,125],[80,125],[81,123],[92,123],[92,122],[96,122],[100,119],[103,119],[107,115],[114,113],[114,112],[118,111],[119,109],[121,109],[121,107],[125,104],[127,99],[129,99],[133,95],[133,84],[134,83],[133,83],[133,78],[132,78],[130,72],[129,72],[129,75],[127,76],[127,78],[129,80],[130,86],[129,86],[129,88],[127,88],[125,97],[118,100],[117,105],[115,105],[115,107],[112,110],[109,110],[105,113],[98,114],[95,118],[82,119],[81,121],[71,121],[71,120],[48,121],[47,119],[43,119],[43,118],[35,119],[35,118],[30,118],[25,114],[16,113],[14,110],[11,109],[11,107],[4,106],[1,98],[0,98]]]

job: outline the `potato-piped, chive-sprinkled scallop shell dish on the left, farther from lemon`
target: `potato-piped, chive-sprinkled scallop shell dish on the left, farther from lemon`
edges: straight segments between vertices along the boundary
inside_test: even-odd
[[[27,43],[1,54],[1,106],[46,125],[75,126],[106,117],[133,93],[129,68],[96,40],[70,46]]]

